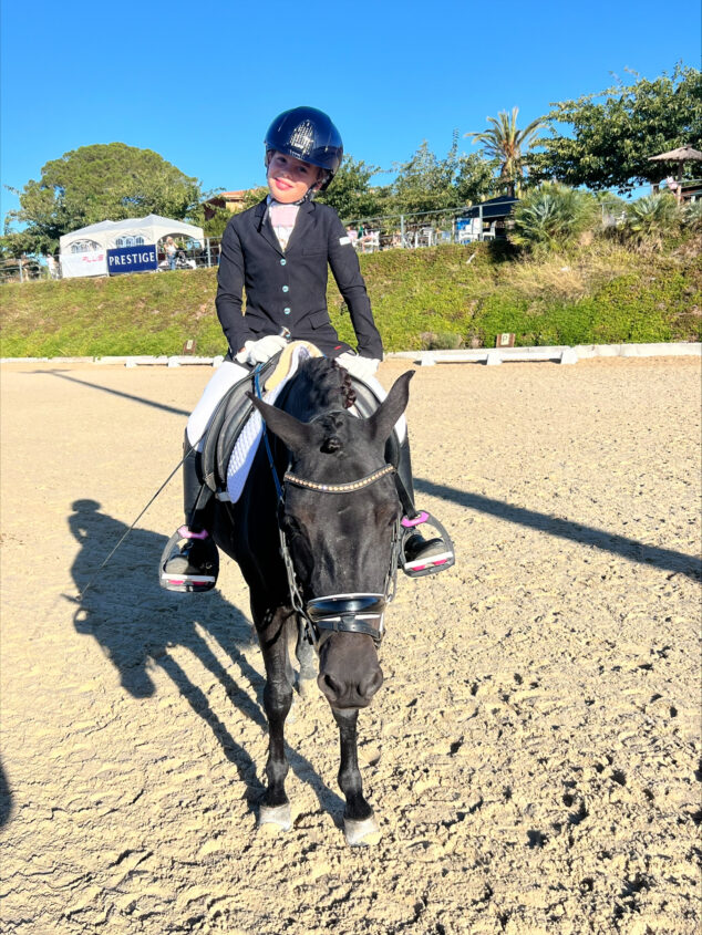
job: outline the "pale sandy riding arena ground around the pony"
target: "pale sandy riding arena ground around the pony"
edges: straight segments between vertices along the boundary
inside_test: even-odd
[[[383,837],[353,851],[318,695],[288,727],[295,827],[257,832],[238,569],[157,586],[178,479],[74,600],[210,373],[4,368],[1,929],[699,931],[700,362],[417,371],[417,499],[458,562],[401,575],[361,716]]]

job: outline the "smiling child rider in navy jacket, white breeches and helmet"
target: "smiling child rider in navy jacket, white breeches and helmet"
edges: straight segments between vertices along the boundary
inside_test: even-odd
[[[359,380],[373,376],[383,356],[353,243],[333,208],[312,200],[341,165],[343,146],[337,127],[321,111],[295,107],[271,123],[265,145],[270,194],[235,215],[221,240],[216,305],[229,353],[187,424],[186,450],[195,447],[183,465],[185,526],[178,530],[179,547],[162,569],[162,584],[175,591],[205,591],[216,581],[217,548],[208,532],[211,494],[203,484],[196,448],[227,391],[289,340],[310,341]],[[331,324],[328,266],[349,309],[358,354],[339,340]],[[246,313],[241,314],[244,289]],[[398,474],[413,501],[406,435]],[[427,541],[416,531],[405,537],[404,553],[410,574],[450,564],[453,558],[443,539]]]

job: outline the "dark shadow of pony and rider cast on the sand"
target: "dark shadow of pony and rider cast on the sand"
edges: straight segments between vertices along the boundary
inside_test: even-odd
[[[215,589],[207,594],[175,594],[158,586],[156,569],[167,537],[133,529],[114,552],[110,564],[95,572],[97,558],[125,534],[127,527],[100,509],[95,500],[76,500],[69,517],[71,533],[80,543],[71,573],[79,598],[73,623],[78,633],[92,636],[115,666],[122,687],[134,698],[148,698],[156,687],[152,672],[165,672],[192,709],[210,727],[227,759],[247,787],[252,807],[264,786],[257,766],[213,710],[207,694],[195,685],[174,658],[173,650],[186,647],[221,684],[229,700],[264,733],[268,731],[262,698],[265,677],[248,662],[245,648],[256,642],[249,620]],[[90,586],[89,586],[90,585]],[[214,652],[205,634],[233,661],[254,690],[237,684],[228,667]],[[292,770],[308,782],[326,811],[341,813],[343,802],[313,767],[288,749]]]

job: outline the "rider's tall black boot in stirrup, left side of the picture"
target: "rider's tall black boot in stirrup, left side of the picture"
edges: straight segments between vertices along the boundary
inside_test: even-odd
[[[213,491],[203,479],[202,456],[185,436],[183,509],[185,526],[169,539],[161,559],[161,585],[168,591],[209,591],[217,582],[219,553],[211,529]]]

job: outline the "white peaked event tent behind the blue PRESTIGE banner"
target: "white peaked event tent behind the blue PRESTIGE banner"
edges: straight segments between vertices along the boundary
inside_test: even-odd
[[[61,272],[64,279],[78,276],[106,276],[107,250],[116,247],[157,246],[166,237],[197,240],[204,246],[202,227],[185,221],[147,215],[122,221],[100,221],[59,239]]]

